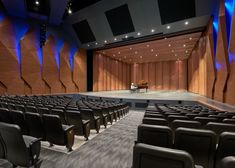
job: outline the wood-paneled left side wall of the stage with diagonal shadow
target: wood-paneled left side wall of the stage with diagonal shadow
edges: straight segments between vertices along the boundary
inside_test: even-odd
[[[93,55],[93,91],[125,90],[130,87],[131,65],[106,57]]]

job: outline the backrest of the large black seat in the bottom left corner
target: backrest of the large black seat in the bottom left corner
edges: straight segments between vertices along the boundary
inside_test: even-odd
[[[28,165],[29,150],[18,125],[0,123],[0,134],[6,149],[6,158],[14,165]],[[17,149],[17,150],[16,150]]]

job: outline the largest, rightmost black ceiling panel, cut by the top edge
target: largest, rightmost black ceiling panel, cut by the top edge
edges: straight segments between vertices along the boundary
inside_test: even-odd
[[[196,16],[195,0],[158,0],[162,24]]]

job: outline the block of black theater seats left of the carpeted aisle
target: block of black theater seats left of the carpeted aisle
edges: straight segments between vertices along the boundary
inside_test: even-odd
[[[108,122],[112,124],[128,112],[129,107],[119,102],[77,101],[63,96],[0,97],[0,133],[9,127],[9,130],[15,130],[11,132],[11,136],[21,135],[20,141],[27,147],[28,142],[33,144],[34,141],[48,141],[50,145],[63,145],[71,151],[74,133],[83,135],[88,140],[90,128],[99,133],[100,124],[106,128]],[[32,139],[34,140],[31,143]],[[12,142],[15,143],[14,139]],[[16,148],[11,148],[10,145],[6,150],[7,142],[3,141],[3,144],[5,145],[1,150],[5,154],[1,158],[8,159],[14,165],[26,165],[26,162],[18,162],[17,152],[13,154],[13,158],[12,153],[7,152],[12,150],[14,153]],[[40,151],[39,146],[36,148]]]

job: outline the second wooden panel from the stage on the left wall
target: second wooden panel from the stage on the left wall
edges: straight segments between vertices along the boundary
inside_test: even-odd
[[[76,87],[73,82],[69,57],[70,57],[70,46],[68,43],[64,43],[64,46],[60,51],[60,81],[65,87],[66,93],[73,93],[76,92]]]

